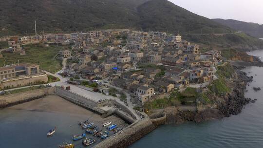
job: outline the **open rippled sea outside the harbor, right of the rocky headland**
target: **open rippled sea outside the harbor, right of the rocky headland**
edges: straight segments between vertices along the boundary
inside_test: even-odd
[[[263,51],[248,54],[263,56]],[[130,148],[263,148],[263,67],[247,67],[244,72],[254,77],[245,96],[258,101],[246,105],[242,113],[199,124],[160,126]]]

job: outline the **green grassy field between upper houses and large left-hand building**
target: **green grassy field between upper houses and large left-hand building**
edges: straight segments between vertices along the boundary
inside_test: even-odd
[[[38,64],[40,69],[56,73],[62,68],[61,61],[54,59],[59,50],[64,47],[42,47],[39,44],[27,45],[23,47],[26,55],[20,56],[19,53],[2,53],[6,59],[6,64],[14,64],[18,62],[27,62]]]

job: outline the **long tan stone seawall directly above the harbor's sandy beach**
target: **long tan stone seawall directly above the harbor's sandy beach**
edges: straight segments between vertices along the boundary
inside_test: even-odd
[[[23,102],[41,98],[48,94],[54,94],[55,88],[44,88],[28,92],[0,96],[0,108],[17,105]]]

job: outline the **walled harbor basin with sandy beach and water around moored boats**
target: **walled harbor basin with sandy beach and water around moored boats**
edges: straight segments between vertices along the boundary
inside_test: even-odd
[[[108,129],[110,125],[117,125],[119,129],[129,126],[115,115],[102,118],[100,114],[79,107],[54,94],[0,110],[0,120],[2,132],[0,148],[15,148],[21,145],[27,148],[58,148],[59,145],[69,143],[74,144],[75,148],[86,148],[82,144],[85,138],[93,139],[94,143],[89,147],[94,147],[107,138],[107,136],[103,137],[104,132],[107,131],[108,136],[114,134],[114,130]],[[79,122],[87,120],[93,125],[83,129]],[[110,122],[110,125],[103,125]],[[49,130],[55,127],[56,132],[47,136]],[[100,136],[86,132],[94,127],[101,132]],[[85,137],[73,141],[74,135],[82,133],[85,133]],[[16,139],[16,142],[13,139]]]

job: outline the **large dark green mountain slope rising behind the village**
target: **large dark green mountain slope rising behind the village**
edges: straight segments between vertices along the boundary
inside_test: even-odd
[[[218,33],[231,29],[168,0],[0,0],[0,35],[131,28]]]

